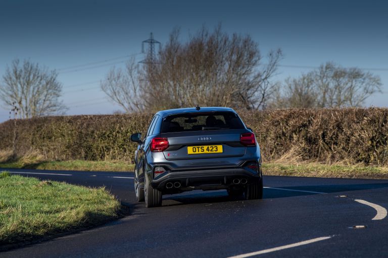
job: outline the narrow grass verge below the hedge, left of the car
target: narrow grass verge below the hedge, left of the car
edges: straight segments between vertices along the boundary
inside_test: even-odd
[[[81,171],[133,171],[134,165],[124,161],[16,161],[2,162],[0,168],[28,168],[46,170],[81,170]]]

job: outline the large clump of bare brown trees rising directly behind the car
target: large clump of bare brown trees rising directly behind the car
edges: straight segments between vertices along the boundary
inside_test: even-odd
[[[102,83],[104,92],[127,112],[197,104],[265,108],[274,93],[271,79],[280,49],[271,51],[264,64],[249,35],[229,36],[221,26],[213,32],[203,27],[183,43],[179,34],[174,29],[156,60],[147,57],[140,69],[130,62],[125,73],[112,70]]]

